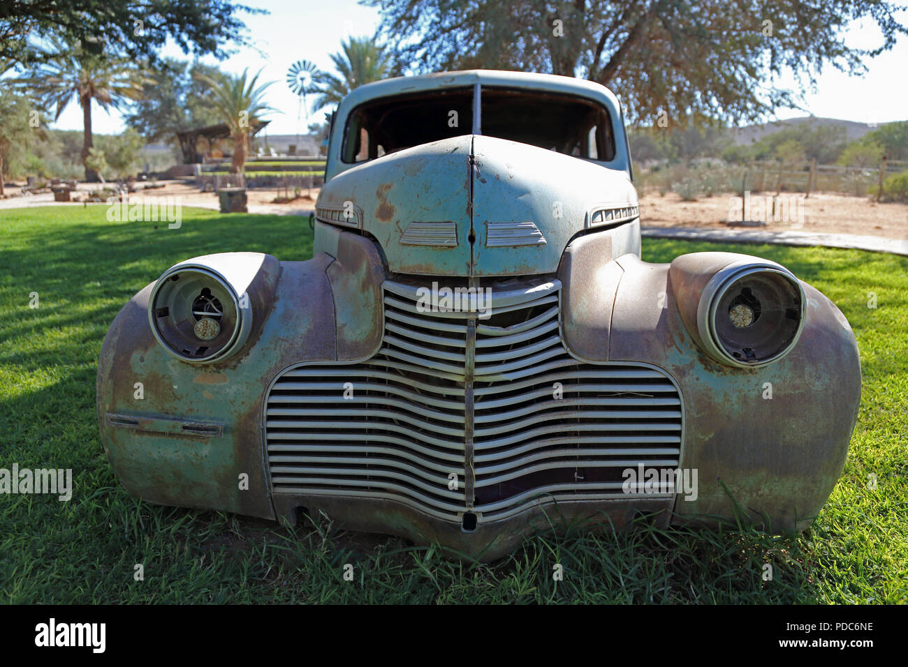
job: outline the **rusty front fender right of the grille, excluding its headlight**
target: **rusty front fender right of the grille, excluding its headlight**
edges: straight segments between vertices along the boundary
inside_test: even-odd
[[[589,258],[576,248],[559,274],[568,286],[565,344],[577,358],[643,361],[676,381],[682,467],[697,480],[696,491],[676,495],[676,522],[734,518],[736,503],[767,529],[810,525],[841,475],[860,403],[857,344],[842,312],[802,282],[807,304],[795,347],[761,368],[724,366],[704,353],[684,313],[696,310],[697,285],[746,256],[683,256],[682,274],[633,255],[597,264],[587,243]]]

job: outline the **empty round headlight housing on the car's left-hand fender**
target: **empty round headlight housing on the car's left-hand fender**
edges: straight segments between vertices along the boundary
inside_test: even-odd
[[[164,271],[152,289],[148,317],[164,349],[192,363],[230,357],[249,337],[249,298],[207,267],[178,264]]]

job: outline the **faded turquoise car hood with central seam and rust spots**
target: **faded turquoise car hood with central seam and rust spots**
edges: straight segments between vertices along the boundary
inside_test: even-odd
[[[626,172],[495,137],[464,135],[335,176],[319,220],[377,240],[388,268],[433,276],[552,273],[577,233],[633,220]],[[316,250],[319,250],[316,248]]]

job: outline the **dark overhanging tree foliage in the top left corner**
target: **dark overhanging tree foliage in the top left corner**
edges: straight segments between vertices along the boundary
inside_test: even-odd
[[[4,0],[0,4],[0,58],[19,63],[45,54],[33,39],[81,42],[100,56],[117,51],[132,60],[154,59],[173,40],[184,54],[222,58],[230,42],[248,44],[242,14],[267,14],[230,0]]]

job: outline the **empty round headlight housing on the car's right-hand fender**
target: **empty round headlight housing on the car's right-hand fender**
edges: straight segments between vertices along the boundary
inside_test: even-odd
[[[697,330],[716,361],[755,368],[785,357],[804,326],[804,289],[773,262],[738,261],[716,272],[697,304]]]

